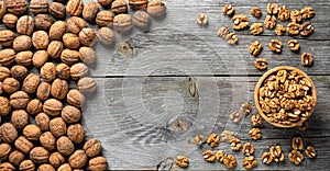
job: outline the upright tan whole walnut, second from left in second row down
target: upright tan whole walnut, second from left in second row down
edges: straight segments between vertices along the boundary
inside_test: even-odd
[[[34,31],[34,21],[32,16],[23,15],[18,20],[16,31],[19,34],[32,35]]]

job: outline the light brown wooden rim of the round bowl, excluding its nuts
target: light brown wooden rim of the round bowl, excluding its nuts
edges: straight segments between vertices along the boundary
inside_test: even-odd
[[[308,117],[306,117],[306,119],[300,119],[299,122],[296,122],[296,123],[293,123],[290,125],[284,125],[284,124],[280,124],[280,123],[274,123],[274,122],[271,122],[271,119],[264,114],[264,112],[262,111],[261,106],[260,106],[260,103],[258,103],[258,89],[260,87],[262,86],[262,83],[264,82],[264,80],[272,73],[274,72],[277,72],[278,70],[297,70],[299,73],[301,73],[308,81],[311,82],[311,96],[315,99],[315,105],[316,106],[316,103],[317,103],[317,91],[316,91],[316,88],[315,88],[315,84],[312,82],[312,80],[309,78],[309,76],[307,73],[305,73],[304,71],[301,71],[300,69],[298,68],[295,68],[295,67],[289,67],[289,66],[280,66],[280,67],[276,67],[276,68],[273,68],[271,70],[268,70],[267,72],[265,72],[261,78],[260,80],[257,81],[256,86],[255,86],[255,89],[254,89],[254,103],[255,103],[255,107],[258,112],[258,114],[270,124],[274,125],[274,126],[277,126],[277,127],[283,127],[283,128],[288,128],[288,127],[297,127],[297,126],[301,126],[304,122],[307,121],[307,118],[312,114],[315,107],[310,111],[310,115]]]

